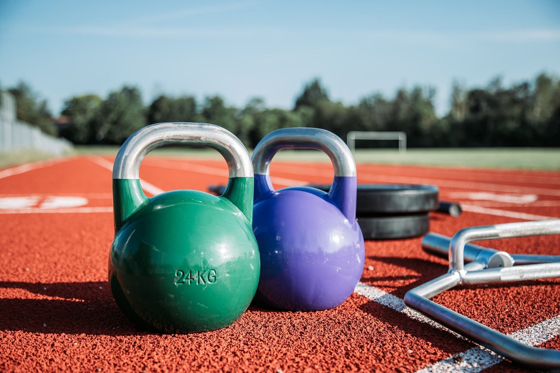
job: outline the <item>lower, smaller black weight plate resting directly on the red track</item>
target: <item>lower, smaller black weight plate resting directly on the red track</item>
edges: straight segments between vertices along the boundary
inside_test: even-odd
[[[430,214],[358,217],[363,239],[396,239],[421,236],[430,230]]]

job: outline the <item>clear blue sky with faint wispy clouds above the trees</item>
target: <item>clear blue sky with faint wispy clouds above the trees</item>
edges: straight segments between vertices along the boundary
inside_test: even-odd
[[[160,93],[264,97],[290,108],[320,77],[354,103],[414,84],[449,107],[453,79],[484,86],[560,73],[560,1],[0,1],[0,84],[58,113],[124,83]]]

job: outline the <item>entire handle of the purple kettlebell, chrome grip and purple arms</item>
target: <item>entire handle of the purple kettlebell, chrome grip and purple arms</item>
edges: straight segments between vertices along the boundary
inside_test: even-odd
[[[337,135],[320,128],[282,128],[264,136],[251,159],[255,172],[255,202],[274,192],[270,181],[270,161],[281,149],[318,149],[329,156],[334,167],[333,185],[328,193],[352,223],[356,220],[356,163],[348,145]]]

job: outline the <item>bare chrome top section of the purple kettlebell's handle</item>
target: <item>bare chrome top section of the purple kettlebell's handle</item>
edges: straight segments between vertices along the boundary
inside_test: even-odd
[[[282,128],[260,140],[253,152],[256,174],[268,175],[270,161],[281,149],[318,149],[329,156],[334,176],[356,176],[356,163],[348,145],[337,135],[320,128]]]

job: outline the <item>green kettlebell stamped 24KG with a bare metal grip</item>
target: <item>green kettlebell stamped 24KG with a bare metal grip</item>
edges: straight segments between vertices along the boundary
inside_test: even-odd
[[[223,195],[175,190],[146,197],[140,163],[163,145],[218,150],[230,174]],[[248,308],[260,275],[253,166],[230,131],[202,123],[160,123],[137,131],[116,155],[113,205],[109,282],[133,323],[160,332],[203,332],[227,327]]]

